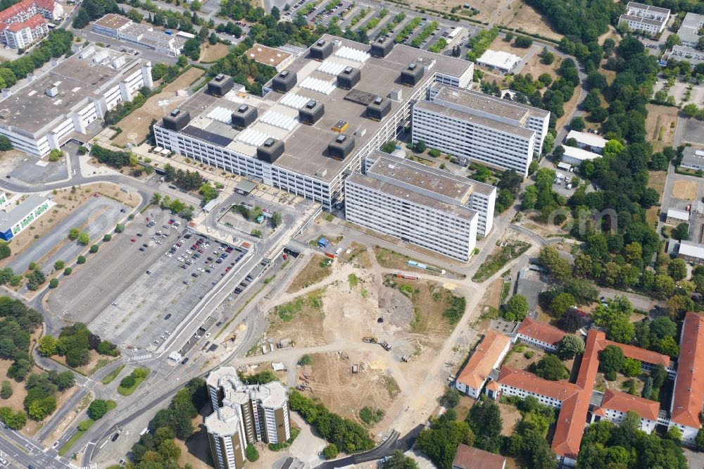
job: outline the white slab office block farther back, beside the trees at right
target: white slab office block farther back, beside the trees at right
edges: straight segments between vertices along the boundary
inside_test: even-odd
[[[435,87],[413,106],[413,143],[523,177],[540,154],[550,113],[454,87]]]

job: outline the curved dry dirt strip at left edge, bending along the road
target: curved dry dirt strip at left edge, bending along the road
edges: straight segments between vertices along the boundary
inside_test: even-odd
[[[12,260],[13,256],[18,256],[18,254],[27,249],[36,239],[54,230],[54,227],[61,223],[70,213],[73,213],[73,211],[89,201],[94,192],[110,197],[130,207],[136,207],[137,204],[139,204],[139,194],[136,192],[121,192],[120,187],[111,182],[99,182],[98,184],[81,186],[73,193],[70,188],[58,189],[56,194],[52,195],[52,201],[54,201],[56,205],[51,207],[48,213],[42,215],[42,217],[33,223],[29,229],[13,237],[10,243],[12,256],[0,261],[0,268],[4,268]],[[91,218],[96,218],[99,215],[100,213],[94,213],[91,215]],[[54,250],[46,253],[44,258],[50,256],[58,247],[59,245],[55,246]],[[35,262],[40,263],[44,258],[36,259]]]

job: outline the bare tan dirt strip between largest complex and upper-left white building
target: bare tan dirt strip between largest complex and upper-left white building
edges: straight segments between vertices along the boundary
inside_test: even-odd
[[[118,122],[117,126],[122,129],[122,133],[115,137],[113,143],[118,146],[125,146],[128,143],[137,144],[142,142],[149,135],[151,120],[162,118],[163,115],[169,113],[180,102],[184,101],[187,96],[177,97],[176,92],[189,87],[203,73],[205,72],[200,68],[191,67],[174,82],[169,83],[161,93],[147,99],[141,108]]]

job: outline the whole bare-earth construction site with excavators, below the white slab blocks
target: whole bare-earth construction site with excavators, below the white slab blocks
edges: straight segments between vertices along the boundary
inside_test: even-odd
[[[298,263],[301,269],[307,264]],[[289,387],[347,418],[363,422],[361,409],[383,409],[383,418],[363,422],[381,434],[408,405],[401,396],[426,399],[416,391],[427,375],[440,373],[445,381],[476,335],[460,331],[449,359],[433,369],[454,329],[444,313],[465,294],[463,287],[371,264],[361,268],[336,258],[320,282],[294,293],[284,286],[263,301],[269,330],[241,363],[274,368]],[[291,273],[289,282],[296,277]]]

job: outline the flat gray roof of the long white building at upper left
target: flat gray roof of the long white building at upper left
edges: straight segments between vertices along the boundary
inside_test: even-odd
[[[131,73],[146,61],[131,54],[122,54],[113,49],[94,47],[96,54],[80,58],[80,52],[70,56],[33,82],[12,90],[12,95],[0,101],[0,126],[15,127],[13,130],[41,135],[51,130],[70,111],[88,98],[100,99],[108,86]],[[94,64],[98,55],[104,54],[103,60]],[[118,57],[124,57],[125,64],[118,69],[111,65]],[[51,97],[44,92],[46,88],[56,87],[58,95]],[[5,117],[2,118],[2,115]]]

